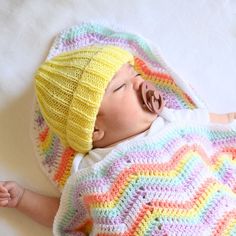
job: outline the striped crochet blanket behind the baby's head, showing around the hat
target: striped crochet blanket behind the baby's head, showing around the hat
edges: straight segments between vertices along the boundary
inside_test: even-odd
[[[159,50],[147,39],[117,27],[95,23],[81,23],[63,30],[55,38],[47,59],[89,45],[115,45],[135,56],[135,69],[146,80],[152,81],[162,92],[165,105],[173,109],[205,107],[193,89],[178,77],[164,62]],[[35,100],[32,140],[43,171],[60,190],[70,176],[75,151],[64,147],[46,124]]]

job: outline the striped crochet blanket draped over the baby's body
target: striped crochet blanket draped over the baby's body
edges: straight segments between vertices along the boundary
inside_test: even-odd
[[[236,122],[170,124],[71,176],[55,235],[236,235]]]

